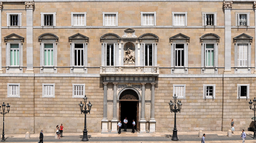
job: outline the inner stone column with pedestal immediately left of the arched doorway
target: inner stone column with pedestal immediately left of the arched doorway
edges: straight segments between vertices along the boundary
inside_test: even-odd
[[[117,133],[117,83],[114,84],[114,91],[113,91],[113,118],[111,120],[112,130],[111,133]]]

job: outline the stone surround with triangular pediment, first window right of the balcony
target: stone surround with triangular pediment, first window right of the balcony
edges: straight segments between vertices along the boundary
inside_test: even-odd
[[[189,44],[190,37],[184,34],[177,34],[170,37],[171,43],[171,73],[188,73],[188,44]],[[176,44],[184,44],[184,67],[175,67],[175,45]]]

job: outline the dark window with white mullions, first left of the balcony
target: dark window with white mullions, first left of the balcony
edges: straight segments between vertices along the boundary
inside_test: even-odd
[[[75,44],[75,66],[84,65],[84,44]]]

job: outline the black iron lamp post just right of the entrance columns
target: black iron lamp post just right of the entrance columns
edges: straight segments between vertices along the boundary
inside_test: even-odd
[[[169,102],[169,106],[170,106],[171,112],[174,112],[174,128],[172,130],[173,131],[173,133],[172,133],[172,140],[173,141],[177,141],[179,139],[178,139],[178,136],[177,136],[177,131],[178,130],[176,128],[176,113],[177,112],[181,112],[182,103],[179,100],[178,100],[178,102],[176,102],[177,101],[176,94],[174,94],[173,99],[174,99],[174,102],[172,102],[172,100],[170,100],[170,102]]]

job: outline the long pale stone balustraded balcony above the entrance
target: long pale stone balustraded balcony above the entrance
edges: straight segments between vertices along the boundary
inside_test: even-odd
[[[107,66],[107,67],[100,67],[100,75],[158,76],[159,75],[159,67]]]

